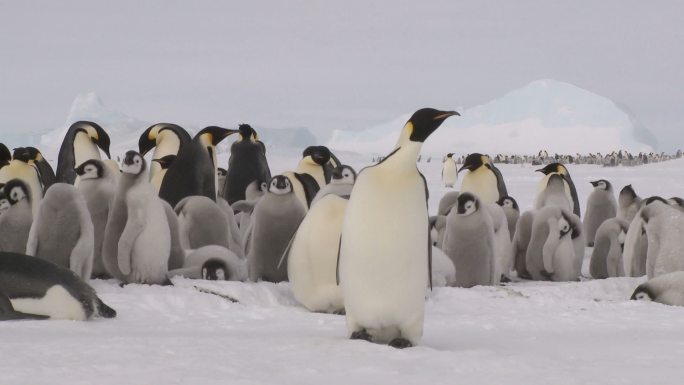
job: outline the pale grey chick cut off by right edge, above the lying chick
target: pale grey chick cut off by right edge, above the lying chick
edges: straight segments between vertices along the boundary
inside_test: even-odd
[[[646,200],[641,219],[648,238],[646,274],[657,277],[684,270],[684,213],[660,197]]]

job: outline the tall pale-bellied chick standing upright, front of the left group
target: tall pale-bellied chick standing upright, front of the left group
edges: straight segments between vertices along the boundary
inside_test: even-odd
[[[125,283],[167,283],[171,234],[164,205],[139,153],[128,151],[121,171],[105,228],[105,269]]]

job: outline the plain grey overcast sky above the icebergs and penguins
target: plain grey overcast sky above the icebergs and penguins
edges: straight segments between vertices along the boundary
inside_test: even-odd
[[[681,1],[0,0],[0,136],[88,91],[146,121],[358,129],[553,78],[671,150],[683,50]]]

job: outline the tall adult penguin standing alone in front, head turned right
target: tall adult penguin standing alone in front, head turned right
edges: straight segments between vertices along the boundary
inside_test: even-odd
[[[423,334],[430,279],[427,185],[416,161],[425,139],[455,111],[423,108],[392,152],[363,169],[342,225],[339,278],[352,339],[405,348]]]

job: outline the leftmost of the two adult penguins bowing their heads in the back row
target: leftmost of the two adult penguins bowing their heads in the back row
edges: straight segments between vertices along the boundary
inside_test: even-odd
[[[109,135],[99,124],[88,121],[72,124],[59,148],[55,181],[76,183],[76,167],[88,159],[102,159],[98,147],[111,158],[109,143]]]

